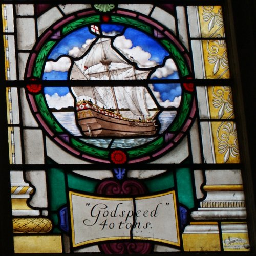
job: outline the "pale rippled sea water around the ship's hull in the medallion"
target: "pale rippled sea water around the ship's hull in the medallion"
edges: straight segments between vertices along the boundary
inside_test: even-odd
[[[161,124],[161,128],[159,133],[163,133],[167,127],[173,122],[176,111],[163,111],[159,116],[158,120]],[[74,136],[84,136],[81,134],[80,130],[76,126],[75,121],[75,113],[74,112],[53,112],[53,115],[58,120],[58,122],[72,135]],[[131,148],[135,146],[143,145],[147,142],[154,140],[156,137],[142,137],[142,138],[132,138],[132,139],[114,139],[111,145],[111,148]],[[92,144],[94,146],[108,148],[111,143],[112,139],[104,139],[104,138],[97,138],[97,137],[88,137],[81,138],[83,142]]]

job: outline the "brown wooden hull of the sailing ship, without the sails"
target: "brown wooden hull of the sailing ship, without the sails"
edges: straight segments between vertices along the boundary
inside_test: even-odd
[[[155,121],[141,122],[123,119],[108,111],[83,109],[77,111],[78,124],[86,136],[141,136],[155,135]]]

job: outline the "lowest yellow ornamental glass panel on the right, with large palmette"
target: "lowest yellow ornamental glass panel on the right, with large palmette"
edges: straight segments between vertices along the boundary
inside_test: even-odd
[[[240,163],[236,123],[212,122],[216,163]]]

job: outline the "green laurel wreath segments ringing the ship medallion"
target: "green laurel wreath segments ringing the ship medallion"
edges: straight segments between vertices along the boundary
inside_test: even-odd
[[[146,24],[133,19],[131,17],[121,17],[117,15],[112,15],[111,16],[112,22],[115,23],[120,23],[120,24],[127,24],[127,25],[132,25],[147,34],[151,34],[151,36],[154,37],[153,30],[150,26],[147,26]],[[82,17],[78,20],[74,20],[73,22],[70,22],[69,24],[65,25],[62,27],[62,34],[66,35],[68,33],[71,33],[74,29],[77,29],[79,27],[83,27],[85,25],[90,25],[90,24],[95,24],[100,22],[100,15],[93,15],[93,16],[88,16],[88,17]],[[62,38],[61,38],[62,39]],[[186,64],[186,61],[178,48],[172,44],[171,41],[167,39],[162,39],[160,40],[161,44],[167,49],[167,51],[173,56],[173,58],[176,60],[176,63],[178,65],[178,68],[181,72],[182,77],[185,77],[189,75],[189,70]],[[33,69],[33,75],[35,77],[40,78],[41,74],[43,72],[42,67],[44,66],[44,63],[46,61],[47,55],[50,52],[50,50],[53,48],[53,46],[57,43],[57,41],[49,40],[47,41],[42,47],[41,50],[39,51],[35,66]],[[46,123],[51,127],[51,129],[56,133],[56,134],[61,134],[65,133],[65,131],[62,129],[62,127],[56,122],[55,118],[53,115],[49,112],[49,109],[47,107],[47,104],[45,102],[45,98],[43,96],[43,93],[38,93],[37,95],[34,95],[35,102],[37,103],[39,112],[41,116],[44,118]],[[183,92],[183,97],[181,101],[181,108],[179,115],[175,118],[173,123],[170,125],[168,130],[166,132],[178,132],[183,123],[185,122],[189,110],[190,110],[190,105],[191,102],[193,101],[193,95],[189,92],[186,92],[184,90]],[[76,148],[76,150],[86,153],[90,156],[100,158],[100,159],[109,159],[109,150],[107,149],[101,149],[99,147],[93,146],[93,145],[88,145],[85,142],[82,142],[74,137],[71,137],[70,140],[72,146]],[[156,140],[149,142],[146,145],[139,146],[135,149],[129,149],[129,150],[124,150],[129,157],[129,159],[135,159],[138,157],[143,157],[145,155],[148,155],[152,152],[156,152],[160,148],[162,148],[165,144],[164,140],[164,134],[159,136]]]

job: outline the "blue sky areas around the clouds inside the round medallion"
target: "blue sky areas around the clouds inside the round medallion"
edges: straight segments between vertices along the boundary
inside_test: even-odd
[[[112,31],[123,31],[123,26],[104,24],[102,30],[106,33]],[[124,32],[126,39],[130,39],[133,43],[132,47],[140,46],[144,51],[151,53],[150,60],[155,60],[157,63],[162,63],[164,58],[169,54],[168,52],[153,38],[146,35],[145,33],[138,31],[133,28],[127,28]],[[73,33],[63,38],[52,50],[48,59],[56,60],[61,55],[68,55],[69,50],[74,47],[81,48],[87,39],[93,39],[95,35],[89,32],[88,27],[78,29]],[[163,77],[162,79],[178,79],[178,72],[175,71],[173,74]],[[68,72],[51,71],[43,74],[43,79],[47,80],[67,80]],[[154,77],[153,79],[158,79]],[[175,97],[181,95],[181,87],[179,84],[154,84],[154,91],[160,93],[161,100],[173,101]],[[68,87],[46,87],[45,93],[54,95],[57,93],[59,96],[65,96],[69,93]]]

